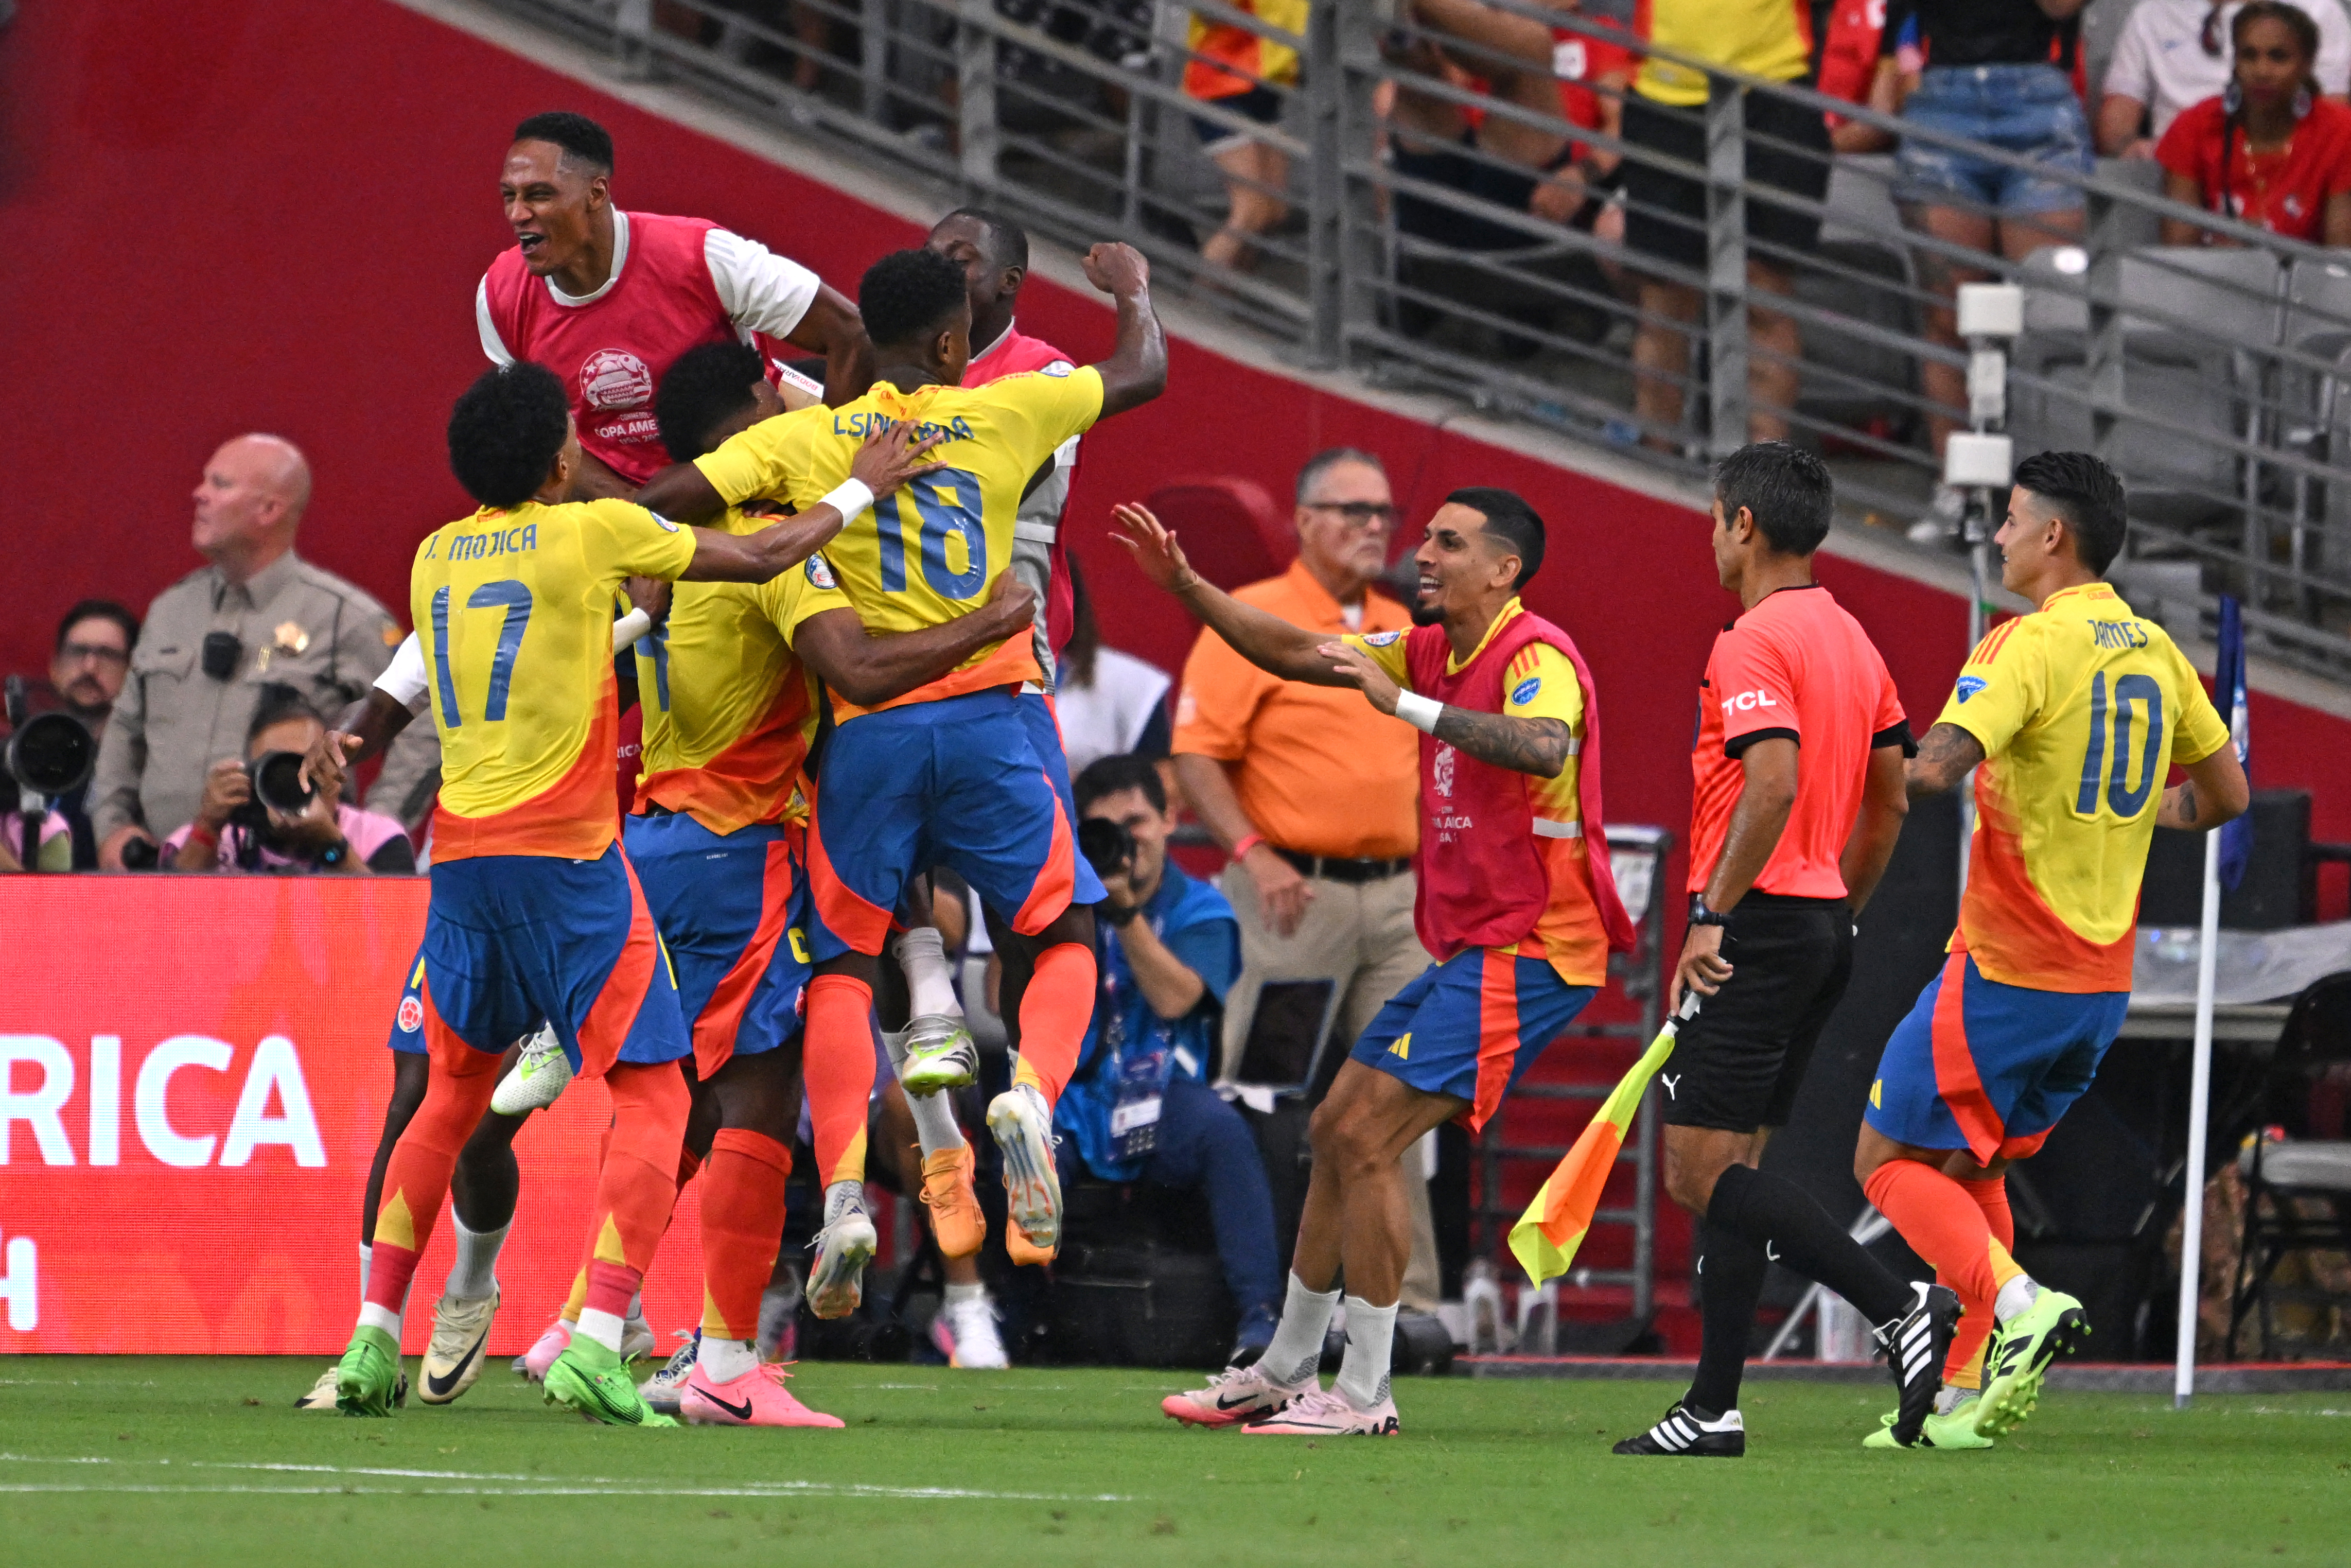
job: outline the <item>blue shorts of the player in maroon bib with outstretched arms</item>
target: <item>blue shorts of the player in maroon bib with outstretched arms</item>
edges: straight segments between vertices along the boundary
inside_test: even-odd
[[[1592,990],[1561,980],[1547,959],[1469,947],[1389,997],[1349,1056],[1420,1093],[1467,1100],[1460,1121],[1474,1135]]]

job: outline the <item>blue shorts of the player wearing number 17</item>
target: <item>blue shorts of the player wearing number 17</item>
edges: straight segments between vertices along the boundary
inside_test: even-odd
[[[552,1023],[571,1070],[590,1077],[691,1051],[677,978],[618,844],[595,860],[437,860],[423,964],[428,1048],[456,1037],[498,1056]]]

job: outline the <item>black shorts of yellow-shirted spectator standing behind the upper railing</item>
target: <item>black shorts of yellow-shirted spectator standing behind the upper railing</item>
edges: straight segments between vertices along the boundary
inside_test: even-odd
[[[1690,108],[1672,108],[1643,99],[1639,92],[1625,94],[1622,134],[1636,148],[1704,167],[1704,120],[1707,110],[1695,103]],[[1813,202],[1829,195],[1829,127],[1820,118],[1820,110],[1751,92],[1747,94],[1747,132],[1749,186],[1787,190]],[[1756,136],[1770,136],[1770,143],[1756,141]],[[1801,150],[1777,143],[1791,143]],[[1636,155],[1625,158],[1622,174],[1627,249],[1702,270],[1707,266],[1707,186],[1686,174],[1641,162]],[[1820,244],[1820,219],[1749,190],[1747,237],[1782,252],[1810,254]],[[1751,254],[1756,261],[1780,270],[1789,266],[1787,256],[1768,249]]]

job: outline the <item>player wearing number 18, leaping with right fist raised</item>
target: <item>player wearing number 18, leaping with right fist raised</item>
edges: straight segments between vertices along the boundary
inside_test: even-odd
[[[1119,308],[1110,360],[964,388],[964,270],[929,249],[884,256],[858,284],[879,364],[865,397],[752,425],[691,468],[656,475],[639,498],[677,517],[752,498],[806,505],[842,482],[858,442],[875,430],[919,428],[938,440],[943,465],[875,505],[872,527],[846,529],[825,559],[877,632],[969,616],[1006,571],[1020,496],[1051,473],[1053,451],[1166,386],[1166,339],[1143,256],[1096,244],[1086,277]],[[844,1041],[846,1063],[846,1041],[870,1039],[877,954],[910,877],[952,867],[1011,914],[1013,931],[1039,943],[1034,980],[1020,997],[1013,1088],[987,1110],[1004,1150],[1006,1244],[1023,1262],[1051,1258],[1060,1239],[1053,1100],[1093,1016],[1091,905],[1103,898],[1016,705],[1020,684],[1041,675],[1032,639],[1006,637],[891,703],[835,703],[839,726],[825,743],[809,825],[811,1058]],[[844,1175],[825,1173],[828,1225],[839,1218],[837,1197],[844,1208],[856,1201],[851,1182],[837,1180]]]

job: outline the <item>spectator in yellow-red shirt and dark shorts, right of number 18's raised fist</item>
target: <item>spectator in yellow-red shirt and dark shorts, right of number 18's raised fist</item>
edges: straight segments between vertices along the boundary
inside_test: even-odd
[[[1307,31],[1307,0],[1232,0],[1232,9],[1293,33]],[[1281,120],[1281,101],[1298,87],[1298,49],[1260,33],[1192,12],[1190,59],[1183,68],[1187,99],[1213,103],[1255,125]],[[1225,226],[1199,247],[1199,259],[1246,273],[1258,263],[1255,237],[1291,216],[1291,160],[1265,139],[1232,129],[1223,120],[1192,115],[1199,150],[1225,174],[1230,209]]]

